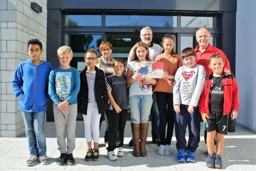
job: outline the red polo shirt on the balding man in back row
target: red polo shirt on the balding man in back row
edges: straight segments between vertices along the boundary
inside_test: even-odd
[[[206,76],[209,76],[212,73],[212,69],[209,68],[208,65],[209,65],[209,59],[213,54],[219,54],[222,56],[224,60],[224,69],[223,69],[224,71],[230,70],[227,56],[219,48],[213,47],[210,43],[204,52],[199,51],[199,45],[197,45],[195,48],[195,52],[197,56],[196,63],[204,66],[206,71]]]

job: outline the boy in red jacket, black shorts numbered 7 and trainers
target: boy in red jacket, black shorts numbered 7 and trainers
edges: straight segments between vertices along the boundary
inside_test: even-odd
[[[207,131],[208,156],[206,166],[222,168],[221,153],[224,146],[224,134],[227,134],[228,115],[231,119],[237,117],[239,108],[239,93],[236,79],[233,75],[226,76],[223,72],[223,58],[214,54],[210,57],[209,68],[213,73],[206,78],[204,91],[199,100],[199,111]],[[214,139],[217,137],[217,155],[214,156]]]

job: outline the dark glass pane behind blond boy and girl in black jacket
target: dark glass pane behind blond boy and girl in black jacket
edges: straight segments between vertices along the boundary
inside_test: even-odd
[[[73,59],[70,66],[79,71],[86,66],[84,54],[89,48],[94,48],[98,56],[100,55],[99,46],[101,44],[101,35],[65,35],[65,45],[70,46],[73,51]]]

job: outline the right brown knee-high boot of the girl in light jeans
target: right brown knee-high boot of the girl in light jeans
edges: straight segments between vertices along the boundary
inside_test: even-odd
[[[140,124],[140,156],[147,156],[146,141],[148,137],[148,123]]]

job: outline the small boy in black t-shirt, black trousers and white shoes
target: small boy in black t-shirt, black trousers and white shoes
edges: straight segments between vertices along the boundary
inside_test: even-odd
[[[125,63],[122,59],[115,59],[113,62],[114,74],[107,78],[107,89],[109,99],[109,123],[110,130],[108,136],[108,158],[114,161],[118,157],[124,156],[122,146],[124,145],[124,128],[126,114],[128,110],[128,94],[125,71]],[[117,136],[119,144],[116,145]],[[117,156],[114,150],[117,150]]]

